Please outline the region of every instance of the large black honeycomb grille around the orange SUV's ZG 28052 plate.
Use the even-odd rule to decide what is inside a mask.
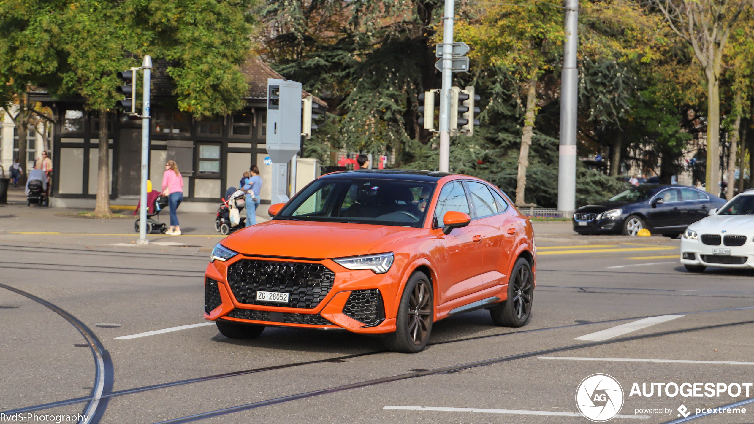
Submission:
[[[228,285],[241,304],[311,309],[334,282],[335,273],[322,264],[241,259],[228,267]],[[289,302],[258,302],[257,290],[289,293]]]

